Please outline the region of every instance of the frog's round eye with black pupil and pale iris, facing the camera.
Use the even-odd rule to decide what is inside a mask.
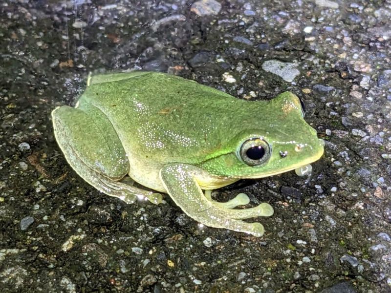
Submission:
[[[240,146],[239,155],[248,166],[261,165],[269,158],[270,147],[262,138],[253,137]]]

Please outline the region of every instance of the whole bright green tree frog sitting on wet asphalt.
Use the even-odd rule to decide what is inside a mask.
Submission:
[[[235,209],[249,203],[246,194],[222,203],[211,190],[303,169],[324,146],[290,92],[245,101],[157,72],[93,76],[76,106],[58,107],[52,117],[69,165],[98,190],[126,203],[146,198],[155,204],[165,192],[206,226],[255,236],[263,226],[243,219],[270,216],[273,208]]]

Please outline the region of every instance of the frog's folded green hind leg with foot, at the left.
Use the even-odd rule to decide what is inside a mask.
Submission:
[[[161,194],[119,181],[129,172],[130,164],[114,127],[99,109],[91,105],[82,108],[61,106],[52,112],[54,134],[69,165],[107,195],[126,203],[137,198],[159,203]]]

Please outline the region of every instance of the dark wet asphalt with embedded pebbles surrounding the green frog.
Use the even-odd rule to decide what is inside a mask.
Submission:
[[[391,292],[391,1],[0,4],[1,292]],[[262,238],[126,205],[66,163],[50,112],[88,72],[163,71],[239,99],[289,90],[326,141],[310,177],[240,181]]]

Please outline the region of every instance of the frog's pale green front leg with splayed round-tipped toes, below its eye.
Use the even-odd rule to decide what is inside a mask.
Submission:
[[[160,179],[168,194],[191,218],[209,227],[246,232],[258,237],[263,235],[260,223],[247,223],[240,219],[272,214],[268,204],[251,209],[232,209],[236,204],[227,207],[224,203],[212,201],[208,192],[204,196],[197,183],[197,177],[202,176],[210,175],[186,164],[168,164],[160,170]]]

